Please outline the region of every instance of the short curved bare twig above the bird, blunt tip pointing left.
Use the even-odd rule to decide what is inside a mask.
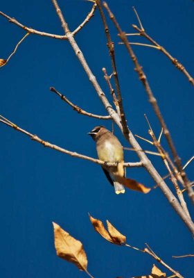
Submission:
[[[69,99],[67,99],[67,97],[65,97],[60,92],[58,92],[54,87],[50,87],[50,90],[52,92],[55,92],[56,95],[58,95],[62,100],[67,102],[67,104],[69,104],[73,108],[73,110],[77,111],[79,114],[89,116],[89,117],[95,117],[96,119],[100,119],[100,120],[109,120],[109,119],[111,119],[110,116],[100,116],[100,115],[95,115],[95,114],[88,113],[87,111],[82,110],[82,108],[78,107],[77,105],[72,104],[72,102],[69,101]]]

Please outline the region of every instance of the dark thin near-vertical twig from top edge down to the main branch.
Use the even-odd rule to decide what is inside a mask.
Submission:
[[[111,63],[112,63],[112,70],[113,70],[113,76],[114,76],[114,83],[116,86],[116,92],[117,92],[117,96],[118,96],[118,106],[119,106],[119,111],[120,111],[120,116],[121,116],[121,124],[123,127],[123,134],[127,134],[129,133],[129,129],[127,128],[127,120],[125,117],[125,111],[123,108],[123,99],[121,96],[121,88],[120,88],[120,84],[119,84],[119,80],[118,80],[118,72],[116,70],[116,60],[115,60],[115,53],[114,53],[114,42],[112,42],[111,40],[111,36],[109,33],[109,28],[107,25],[107,21],[105,19],[105,14],[103,12],[103,8],[101,5],[101,0],[96,0],[96,3],[98,5],[98,10],[100,11],[100,16],[103,20],[103,25],[105,28],[105,34],[107,37],[107,47],[109,49],[109,56],[111,58]]]

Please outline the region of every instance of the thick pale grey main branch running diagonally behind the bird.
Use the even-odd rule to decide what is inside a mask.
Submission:
[[[121,120],[118,117],[118,114],[114,111],[112,108],[112,105],[109,104],[109,101],[105,97],[105,94],[103,90],[100,88],[100,85],[96,81],[96,77],[94,74],[91,72],[89,65],[87,64],[87,61],[85,60],[85,57],[82,54],[82,51],[78,47],[78,44],[76,43],[76,40],[73,38],[72,33],[69,31],[69,27],[67,25],[67,22],[65,22],[64,17],[62,15],[62,12],[60,10],[60,7],[58,6],[58,2],[56,0],[52,0],[53,6],[55,7],[56,12],[58,13],[58,17],[60,18],[60,22],[62,23],[62,28],[64,29],[64,32],[67,35],[67,38],[69,40],[69,43],[71,44],[71,47],[75,51],[76,56],[78,57],[78,60],[80,61],[83,69],[85,70],[89,81],[91,84],[94,86],[96,93],[98,94],[98,97],[100,100],[103,102],[107,112],[109,115],[112,117],[114,122],[118,125],[118,127],[123,131],[123,127],[121,125]],[[130,142],[132,147],[134,149],[140,149],[141,147],[139,143],[136,141],[134,136],[132,135],[132,132],[128,134],[124,134],[126,140]],[[139,156],[141,162],[143,163],[143,166],[145,169],[149,172],[151,177],[155,180],[155,182],[159,185],[161,188],[162,192],[164,193],[165,197],[168,199],[168,202],[170,202],[171,206],[175,209],[177,214],[179,215],[180,218],[182,218],[183,222],[186,224],[188,229],[191,231],[191,233],[194,235],[194,225],[193,222],[188,218],[188,216],[184,213],[182,206],[180,206],[179,202],[177,201],[175,195],[170,191],[164,180],[161,178],[155,167],[152,165],[151,161],[149,161],[148,157],[143,153],[143,152],[136,152],[136,154]]]

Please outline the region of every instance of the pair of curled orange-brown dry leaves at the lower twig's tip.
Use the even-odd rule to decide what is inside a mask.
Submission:
[[[116,228],[114,228],[114,226],[112,226],[109,221],[107,221],[107,231],[102,221],[93,218],[91,215],[89,215],[89,219],[91,224],[93,224],[95,231],[97,231],[100,236],[103,236],[103,238],[108,240],[110,243],[117,245],[126,243],[126,237],[123,236]]]

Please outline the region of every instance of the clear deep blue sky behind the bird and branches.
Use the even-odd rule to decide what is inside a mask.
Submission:
[[[91,3],[86,1],[66,0],[59,4],[71,30],[83,21],[91,8]],[[134,33],[131,24],[137,24],[132,11],[135,6],[145,30],[191,74],[194,65],[193,5],[191,0],[109,1],[127,33]],[[63,34],[51,1],[8,0],[1,1],[0,7],[26,26]],[[125,47],[117,44],[118,36],[111,22],[109,26],[115,41],[128,124],[134,133],[149,138],[143,117],[146,113],[155,133],[159,134],[159,123],[134,72],[134,65]],[[25,32],[0,17],[0,33],[1,58],[7,58]],[[109,74],[112,72],[98,11],[76,35],[76,40],[111,101],[101,70],[106,67]],[[145,42],[139,37],[131,40]],[[193,155],[193,87],[159,51],[133,48],[159,101],[182,162],[186,163]],[[8,65],[1,68],[0,78],[2,115],[44,140],[96,157],[95,143],[87,132],[98,124],[111,129],[111,122],[78,115],[49,91],[50,86],[55,86],[81,108],[106,115],[67,41],[30,35]],[[172,259],[172,255],[193,253],[193,239],[159,188],[148,195],[126,190],[125,195],[117,196],[98,165],[44,148],[3,124],[0,135],[1,277],[87,277],[85,272],[56,256],[52,221],[82,241],[89,261],[88,270],[94,277],[148,275],[152,263],[157,262],[141,252],[106,242],[94,231],[88,212],[94,218],[112,222],[127,236],[127,243],[140,248],[148,243],[172,268],[184,277],[193,277],[193,258]],[[127,147],[118,129],[116,135]],[[164,138],[161,142],[167,148]],[[145,142],[141,144],[144,149],[155,150]],[[149,157],[161,175],[165,175],[167,171],[160,158]],[[126,152],[125,160],[138,161],[138,158]],[[192,164],[186,172],[192,180]],[[155,185],[143,169],[128,169],[127,176],[147,186]],[[174,191],[172,184],[169,185]],[[186,201],[191,209],[187,197]]]

